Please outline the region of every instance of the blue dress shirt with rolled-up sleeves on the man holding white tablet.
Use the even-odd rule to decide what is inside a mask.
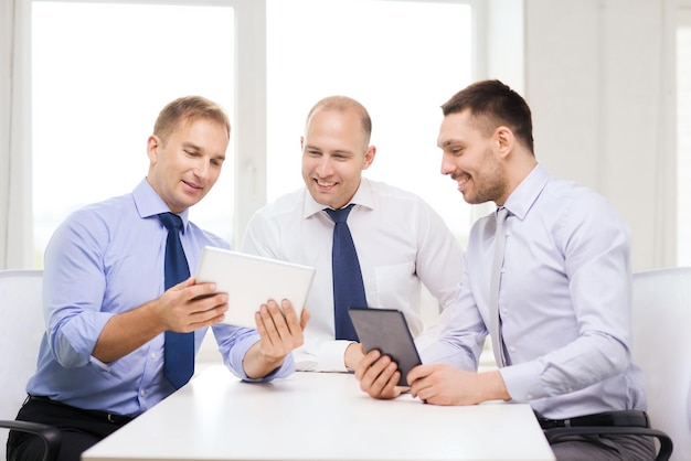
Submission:
[[[157,215],[169,211],[145,179],[131,194],[88,205],[56,229],[45,251],[47,333],[36,373],[26,386],[29,394],[78,408],[137,416],[174,392],[163,377],[162,333],[113,363],[91,355],[111,317],[163,293],[168,230]],[[188,211],[180,216],[182,246],[193,275],[204,246],[230,245],[190,223]],[[256,330],[228,324],[212,329],[230,371],[253,380],[244,374],[242,362],[259,340]],[[194,332],[195,351],[206,330]],[[294,369],[289,354],[278,369],[258,380],[285,377]]]

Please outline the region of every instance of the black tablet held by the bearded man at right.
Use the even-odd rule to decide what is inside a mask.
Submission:
[[[348,313],[364,352],[378,349],[389,355],[401,372],[398,386],[408,386],[405,377],[422,361],[403,312],[396,309],[349,308]]]

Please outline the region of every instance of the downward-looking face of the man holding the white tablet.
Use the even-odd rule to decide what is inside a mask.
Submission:
[[[196,204],[216,183],[228,144],[225,127],[209,119],[183,120],[167,141],[151,135],[147,180],[173,213]]]

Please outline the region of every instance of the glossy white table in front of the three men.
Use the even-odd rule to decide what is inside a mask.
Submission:
[[[243,383],[222,365],[83,454],[103,460],[554,460],[528,405],[370,398],[352,375]]]

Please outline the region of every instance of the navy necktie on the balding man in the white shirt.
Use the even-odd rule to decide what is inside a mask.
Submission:
[[[326,208],[334,223],[331,267],[333,270],[333,320],[337,340],[358,341],[348,315],[349,307],[366,308],[364,283],[353,238],[348,227],[348,214],[354,204],[341,210]]]

